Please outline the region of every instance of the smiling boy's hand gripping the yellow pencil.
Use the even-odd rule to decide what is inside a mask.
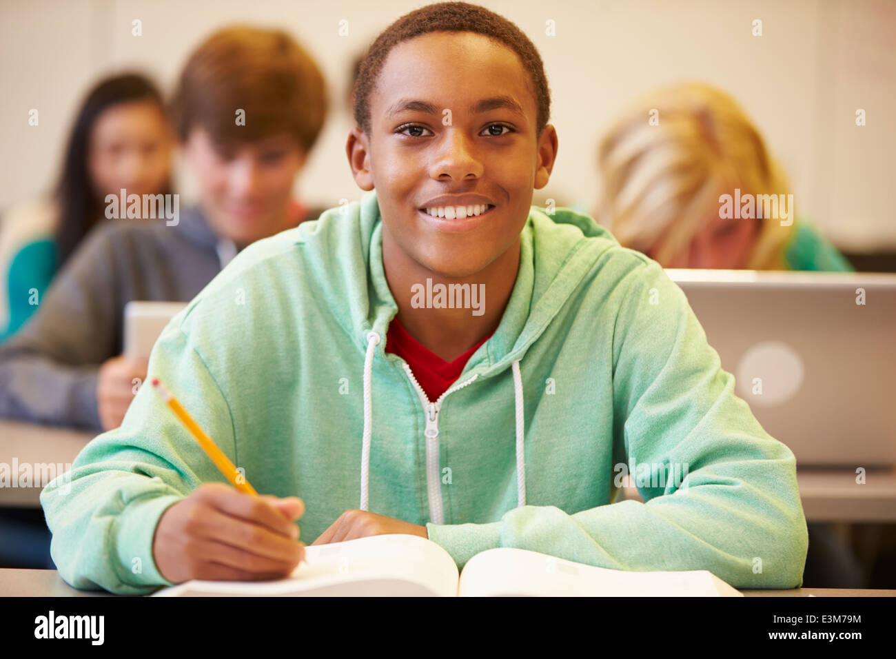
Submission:
[[[159,518],[152,559],[162,577],[258,581],[289,577],[305,558],[295,520],[297,497],[255,498],[223,483],[204,483]]]

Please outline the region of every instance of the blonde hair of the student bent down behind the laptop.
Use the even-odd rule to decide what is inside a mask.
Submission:
[[[787,175],[737,102],[702,82],[680,82],[642,97],[599,146],[598,220],[625,247],[660,264],[690,244],[719,195],[787,195]],[[794,217],[793,208],[789,217]],[[745,267],[787,269],[790,227],[764,218]]]

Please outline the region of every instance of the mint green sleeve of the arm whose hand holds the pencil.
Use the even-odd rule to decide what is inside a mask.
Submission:
[[[174,322],[152,349],[149,375],[159,377],[239,464],[228,403]],[[206,481],[224,477],[152,386],[142,386],[121,427],[90,441],[71,471],[40,494],[60,576],[75,588],[115,594],[172,585],[152,557],[156,525],[168,507]]]

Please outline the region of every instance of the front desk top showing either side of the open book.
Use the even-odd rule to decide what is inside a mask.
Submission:
[[[896,590],[794,588],[742,590],[746,597],[896,597]],[[54,569],[0,569],[0,597],[106,597],[105,591],[78,590],[65,583]]]

